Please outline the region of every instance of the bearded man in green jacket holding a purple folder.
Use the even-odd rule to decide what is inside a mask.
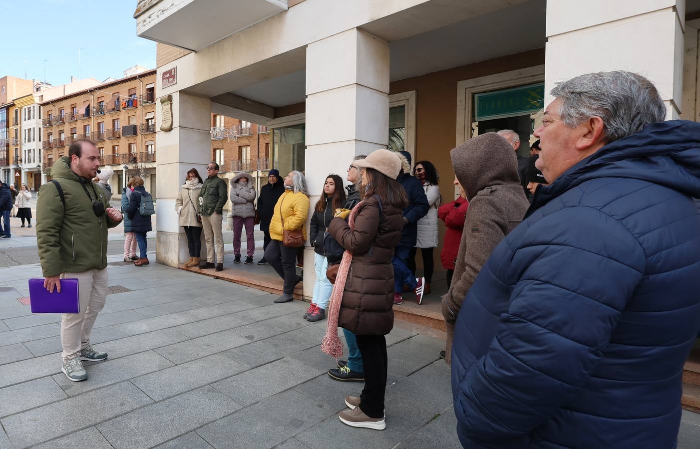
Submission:
[[[90,332],[107,295],[107,228],[116,227],[122,214],[109,207],[102,189],[92,182],[98,168],[97,147],[78,139],[71,143],[68,157],[53,165],[52,182],[41,186],[36,201],[44,287],[60,292],[59,279],[78,279],[80,312],[64,313],[61,320],[61,371],[73,382],[87,379],[81,360],[107,358],[90,344]]]

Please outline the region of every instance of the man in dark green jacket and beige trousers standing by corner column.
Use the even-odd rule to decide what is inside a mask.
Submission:
[[[209,162],[207,179],[200,190],[200,214],[204,240],[207,242],[207,262],[200,265],[202,269],[214,268],[214,241],[216,241],[216,271],[223,270],[223,205],[228,199],[226,181],[218,177],[218,164]]]

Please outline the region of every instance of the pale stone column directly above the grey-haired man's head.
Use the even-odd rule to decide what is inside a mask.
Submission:
[[[585,8],[584,13],[582,8]],[[656,85],[668,120],[682,108],[685,0],[547,0],[545,104],[554,83],[626,70]]]

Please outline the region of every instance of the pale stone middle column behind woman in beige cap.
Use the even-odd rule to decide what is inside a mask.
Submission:
[[[342,178],[356,155],[388,144],[389,47],[359,29],[307,46],[306,179],[311,208],[328,173]],[[304,296],[311,297],[314,251],[304,256]]]

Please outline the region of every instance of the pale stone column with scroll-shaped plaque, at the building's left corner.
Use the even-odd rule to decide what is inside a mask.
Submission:
[[[194,167],[200,172],[203,180],[207,178],[206,167],[211,162],[211,100],[186,92],[175,92],[172,96],[171,131],[160,131],[162,111],[160,101],[156,103],[158,131],[155,142],[158,148],[155,182],[158,208],[155,220],[155,259],[160,264],[177,266],[185,262],[189,255],[187,238],[179,226],[175,212],[175,199],[189,169]],[[204,251],[202,248],[202,252]]]

